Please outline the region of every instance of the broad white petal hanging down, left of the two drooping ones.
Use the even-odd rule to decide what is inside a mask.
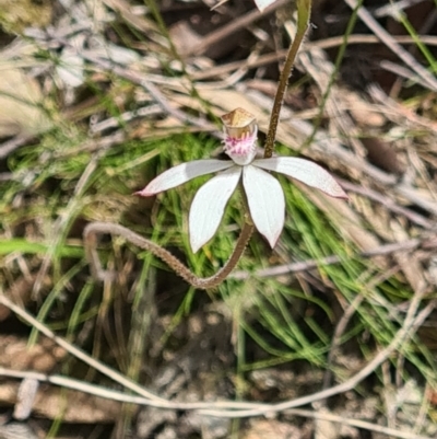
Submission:
[[[241,167],[234,165],[211,178],[196,194],[188,220],[190,244],[194,253],[217,230],[226,203],[237,187],[240,175]]]

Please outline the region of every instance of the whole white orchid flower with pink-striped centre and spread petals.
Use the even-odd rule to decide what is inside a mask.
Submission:
[[[232,160],[181,163],[165,171],[137,193],[150,197],[200,175],[218,172],[198,190],[191,204],[188,227],[194,253],[215,234],[225,206],[240,181],[255,227],[272,247],[275,245],[284,227],[285,199],[277,180],[265,171],[285,174],[331,197],[347,198],[327,171],[308,160],[291,157],[255,159],[258,127],[250,113],[237,108],[222,116],[222,120],[225,126],[224,151]]]

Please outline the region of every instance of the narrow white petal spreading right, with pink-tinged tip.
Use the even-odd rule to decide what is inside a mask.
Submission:
[[[331,197],[347,198],[345,192],[331,174],[316,163],[293,157],[274,157],[272,159],[255,160],[253,166],[280,172],[296,178],[308,186],[316,187]]]

